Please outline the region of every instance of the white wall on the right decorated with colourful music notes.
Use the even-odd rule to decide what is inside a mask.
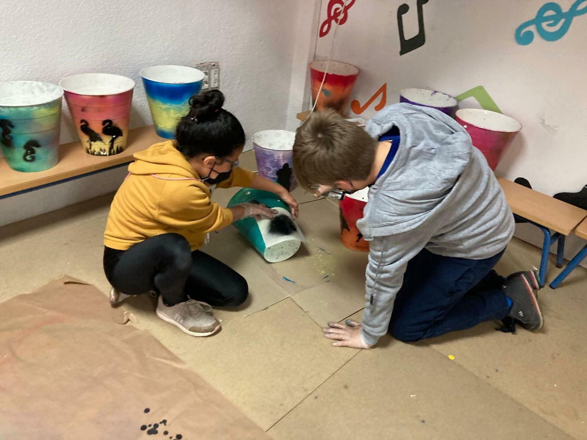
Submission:
[[[431,0],[423,6],[426,43],[400,56],[397,8],[410,6],[404,15],[410,38],[418,30],[416,0],[357,0],[338,29],[333,59],[359,67],[351,100],[360,104],[383,83],[387,104],[397,103],[407,87],[456,96],[484,86],[503,113],[523,126],[496,173],[511,180],[525,177],[548,195],[579,191],[587,184],[587,16],[575,17],[559,40],[535,35],[530,45],[518,45],[515,29],[545,2]],[[558,4],[568,11],[573,2]],[[327,4],[322,0],[319,23],[326,19]],[[328,57],[332,36],[333,29],[318,39],[316,59]],[[377,103],[360,116],[372,116]],[[461,107],[479,106],[467,99]],[[355,116],[350,107],[348,114]],[[534,226],[520,226],[517,235],[541,246],[542,234]],[[567,258],[584,243],[570,237]]]

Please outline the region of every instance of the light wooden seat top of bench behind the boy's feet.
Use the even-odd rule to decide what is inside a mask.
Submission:
[[[514,214],[563,235],[569,235],[587,217],[585,209],[569,205],[502,177],[497,180]]]

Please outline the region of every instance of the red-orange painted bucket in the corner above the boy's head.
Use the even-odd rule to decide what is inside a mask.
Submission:
[[[356,66],[330,61],[324,85],[318,96],[318,89],[324,78],[326,60],[317,60],[309,64],[310,80],[312,86],[312,104],[318,99],[316,109],[335,109],[340,114],[345,114],[346,106],[349,103],[350,92],[355,87],[359,69]]]

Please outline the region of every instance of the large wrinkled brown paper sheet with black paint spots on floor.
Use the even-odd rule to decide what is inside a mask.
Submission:
[[[126,319],[70,277],[0,304],[0,438],[269,438]]]

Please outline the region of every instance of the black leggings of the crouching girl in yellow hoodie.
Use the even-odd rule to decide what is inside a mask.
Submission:
[[[105,248],[104,272],[119,292],[140,295],[154,290],[168,306],[190,298],[235,307],[248,295],[247,280],[210,255],[191,252],[177,233],[147,238],[127,251]]]

